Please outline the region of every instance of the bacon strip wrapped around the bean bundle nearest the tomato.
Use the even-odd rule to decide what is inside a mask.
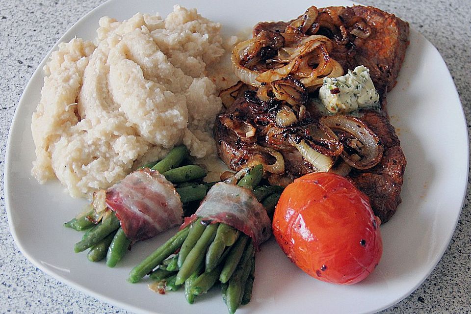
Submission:
[[[271,236],[271,221],[253,193],[244,187],[216,183],[192,216],[222,222],[252,237],[259,247]]]

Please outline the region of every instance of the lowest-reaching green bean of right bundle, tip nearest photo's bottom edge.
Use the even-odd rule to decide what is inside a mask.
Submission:
[[[252,240],[247,244],[243,258],[237,265],[234,274],[229,280],[229,286],[227,287],[227,308],[230,314],[234,314],[240,303],[242,302],[242,296],[244,294],[244,288],[247,282],[247,278],[252,270],[252,259],[255,254],[254,245]]]

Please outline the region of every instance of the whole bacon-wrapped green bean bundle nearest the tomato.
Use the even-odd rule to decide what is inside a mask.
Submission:
[[[164,293],[184,284],[186,299],[193,303],[195,296],[206,293],[219,279],[230,287],[226,293],[230,313],[240,306],[244,295],[244,304],[247,303],[253,285],[249,273],[255,268],[255,252],[271,235],[270,218],[259,202],[262,197],[268,199],[269,193],[252,191],[260,183],[262,174],[263,166],[259,164],[237,185],[220,182],[212,186],[195,214],[183,223],[179,233],[184,233],[185,239],[179,238],[177,245],[176,240],[167,241],[135,266],[128,280],[138,282],[156,269],[156,276],[151,274],[151,278],[159,278],[157,286],[164,287],[167,278],[162,274],[172,274],[175,276],[175,282],[171,278],[172,287],[159,291]],[[279,189],[273,191],[279,197]],[[170,270],[165,264],[175,259],[178,261],[176,275],[162,271]]]

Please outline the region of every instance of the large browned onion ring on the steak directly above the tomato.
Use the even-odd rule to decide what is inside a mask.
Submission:
[[[361,120],[344,115],[322,117],[320,123],[330,128],[343,144],[342,158],[356,169],[369,169],[383,157],[378,136]]]

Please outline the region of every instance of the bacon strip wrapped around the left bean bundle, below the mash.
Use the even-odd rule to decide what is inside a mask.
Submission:
[[[180,195],[164,176],[140,169],[106,190],[106,205],[115,211],[132,242],[151,238],[183,221]]]

